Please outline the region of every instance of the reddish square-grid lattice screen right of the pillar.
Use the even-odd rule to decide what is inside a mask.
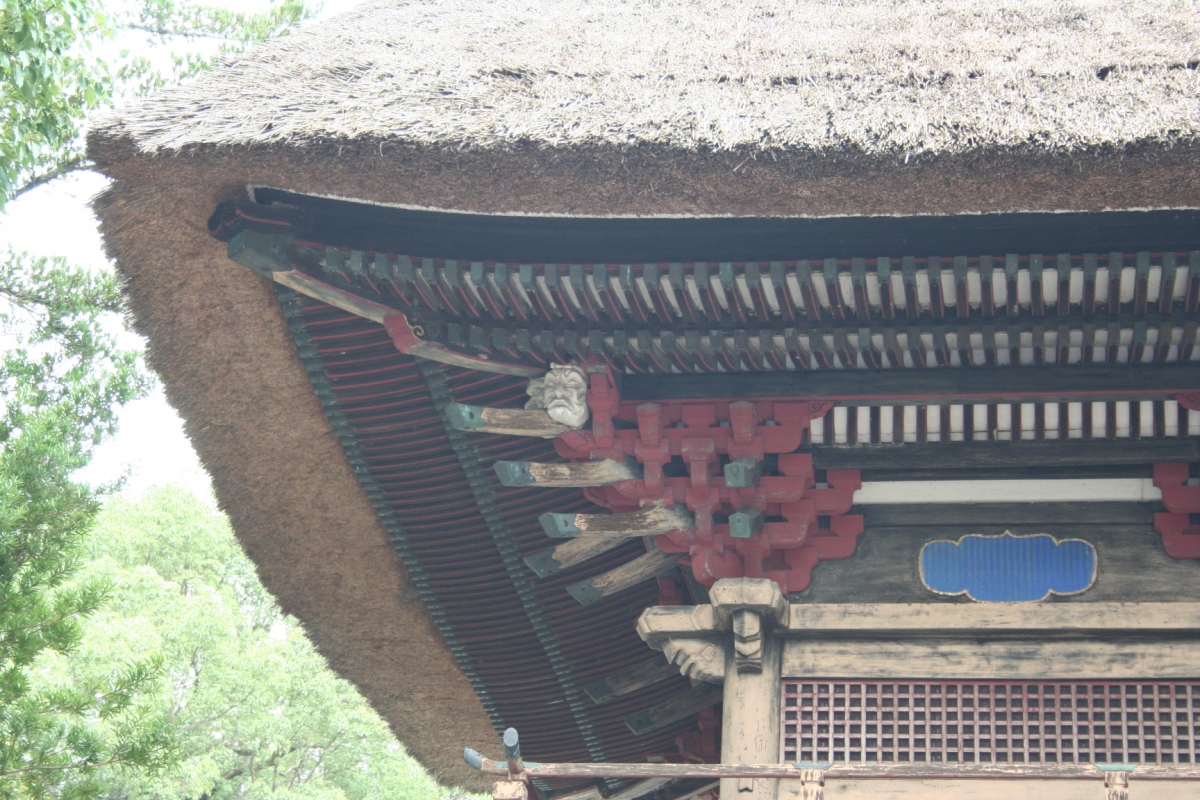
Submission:
[[[1200,763],[1200,681],[784,681],[787,762]]]

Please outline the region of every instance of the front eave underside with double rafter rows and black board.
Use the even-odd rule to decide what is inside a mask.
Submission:
[[[1138,399],[1121,367],[1195,353],[1200,212],[572,219],[256,194],[209,223],[232,258],[302,294],[361,301],[367,311],[355,313],[404,329],[406,351],[484,371],[533,374],[592,357],[635,384],[763,373],[702,386],[648,378],[634,396],[854,401],[870,384],[896,399],[938,385],[967,401],[1009,386],[1045,402],[1061,383],[1032,374],[1021,389],[997,373],[888,378],[882,390],[874,377],[818,378],[815,389],[766,375],[1081,366],[1070,391],[1099,401],[1117,387]],[[635,257],[644,260],[623,260]],[[1170,384],[1168,374],[1147,380]],[[1193,383],[1180,378],[1141,389],[1169,396]]]

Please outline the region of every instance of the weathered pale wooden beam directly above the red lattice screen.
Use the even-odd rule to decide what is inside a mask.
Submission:
[[[955,608],[961,608],[956,606]],[[859,674],[872,679],[1174,680],[1194,679],[1198,640],[1027,639],[788,640],[784,676]]]

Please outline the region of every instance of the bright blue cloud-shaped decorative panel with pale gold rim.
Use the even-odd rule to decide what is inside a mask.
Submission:
[[[966,595],[990,603],[1028,602],[1076,595],[1096,582],[1096,548],[1049,534],[972,534],[920,549],[920,579],[941,595]]]

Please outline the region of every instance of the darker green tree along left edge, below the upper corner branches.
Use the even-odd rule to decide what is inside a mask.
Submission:
[[[68,583],[98,509],[97,492],[71,474],[146,381],[137,355],[103,330],[120,307],[110,276],[10,253],[0,300],[0,795],[90,796],[100,765],[172,762],[168,727],[137,702],[161,664],[128,658],[42,687],[28,670],[43,651],[72,652],[108,596],[101,577]],[[79,780],[61,792],[72,772]]]

